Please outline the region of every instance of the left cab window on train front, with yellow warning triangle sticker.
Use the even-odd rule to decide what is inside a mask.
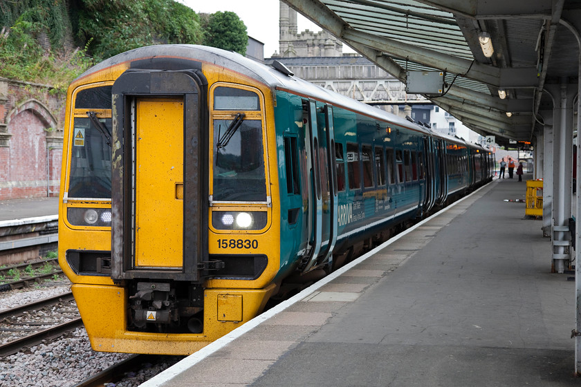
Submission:
[[[111,86],[75,95],[71,131],[69,198],[111,198]]]

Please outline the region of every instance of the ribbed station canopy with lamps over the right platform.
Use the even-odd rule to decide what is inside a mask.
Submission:
[[[531,142],[555,90],[578,88],[581,0],[284,2],[401,82],[443,72],[423,95],[500,145]]]

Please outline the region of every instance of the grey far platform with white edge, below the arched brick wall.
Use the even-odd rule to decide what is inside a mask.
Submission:
[[[0,200],[0,222],[59,215],[59,198]]]

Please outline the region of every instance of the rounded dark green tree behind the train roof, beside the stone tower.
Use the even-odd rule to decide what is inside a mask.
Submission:
[[[205,19],[205,46],[222,48],[246,55],[248,34],[244,22],[234,12],[216,12]]]

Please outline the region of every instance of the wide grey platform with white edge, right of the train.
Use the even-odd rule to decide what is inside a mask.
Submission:
[[[578,386],[575,283],[525,191],[494,180],[141,386]]]

